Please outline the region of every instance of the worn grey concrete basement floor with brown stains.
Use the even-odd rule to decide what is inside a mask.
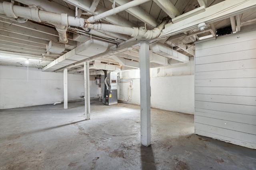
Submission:
[[[256,150],[194,135],[194,115],[151,109],[152,145],[140,144],[140,106],[84,102],[0,110],[0,169],[256,170]]]

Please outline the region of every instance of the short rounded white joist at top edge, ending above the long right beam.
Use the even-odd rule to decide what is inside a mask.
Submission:
[[[170,2],[170,0],[153,0],[164,12],[170,16],[170,18],[175,18],[180,15],[177,8]]]

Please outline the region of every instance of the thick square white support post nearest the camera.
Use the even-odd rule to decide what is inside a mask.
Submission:
[[[140,43],[140,141],[151,144],[149,43]]]

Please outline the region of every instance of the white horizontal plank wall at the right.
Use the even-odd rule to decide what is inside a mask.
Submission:
[[[256,31],[196,44],[195,133],[256,149]]]

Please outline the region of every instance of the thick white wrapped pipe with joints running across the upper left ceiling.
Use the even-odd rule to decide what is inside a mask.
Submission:
[[[134,0],[135,1],[135,0]],[[136,0],[138,1],[138,0]],[[144,1],[143,1],[144,2]],[[46,21],[49,23],[55,23],[57,25],[64,25],[64,26],[76,26],[81,28],[90,28],[96,30],[104,30],[110,31],[115,33],[122,33],[126,35],[131,35],[132,37],[142,36],[146,39],[154,39],[158,37],[164,28],[164,25],[168,23],[169,19],[164,18],[160,25],[152,30],[147,30],[145,27],[124,27],[119,25],[111,25],[105,23],[87,23],[83,18],[75,18],[73,16],[68,16],[68,14],[56,14],[53,12],[47,12],[39,10],[39,8],[34,7],[22,7],[22,6],[14,6],[13,3],[10,2],[3,2],[0,3],[0,14],[4,14],[8,17],[12,18],[28,18],[34,21]],[[60,31],[60,30],[59,30]],[[64,35],[62,31],[60,31],[61,35]],[[65,38],[62,38],[65,39]]]

